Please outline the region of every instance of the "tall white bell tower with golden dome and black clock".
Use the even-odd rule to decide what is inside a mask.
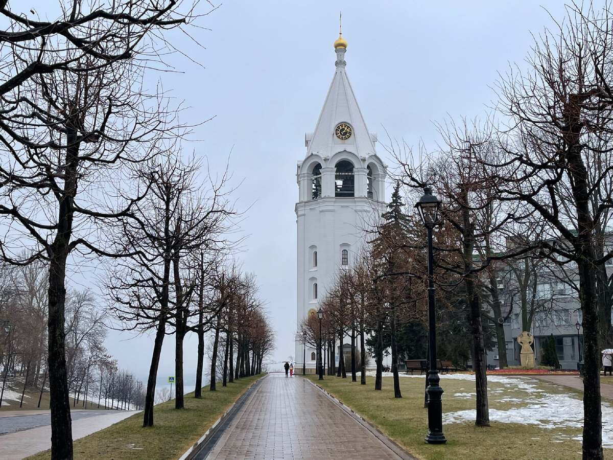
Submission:
[[[297,330],[319,309],[335,273],[351,266],[366,242],[365,230],[386,211],[386,167],[376,155],[376,134],[366,128],[345,71],[347,42],[334,42],[337,60],[326,102],[299,161],[297,182]],[[316,367],[306,347],[307,369]],[[303,343],[295,342],[295,370],[302,372]],[[338,362],[338,361],[337,361]]]

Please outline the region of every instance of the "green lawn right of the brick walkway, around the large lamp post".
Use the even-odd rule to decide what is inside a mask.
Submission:
[[[398,445],[419,459],[477,460],[477,459],[581,459],[581,443],[573,437],[581,435],[576,427],[545,429],[533,424],[492,421],[490,427],[475,427],[472,421],[443,424],[446,445],[424,443],[427,434],[427,409],[424,408],[424,378],[400,378],[402,398],[394,398],[392,377],[383,378],[383,391],[375,391],[375,378],[367,377],[367,385],[355,383],[351,377],[343,379],[308,377],[332,396],[393,439]],[[581,392],[541,381],[531,381],[547,394],[571,394],[581,399]],[[612,382],[613,383],[613,382]],[[441,378],[443,414],[460,410],[474,410],[474,381]],[[534,398],[538,391],[520,387],[509,388],[503,383],[488,381],[490,416],[492,410],[511,410],[528,405],[525,399]],[[471,395],[472,393],[472,395]],[[454,396],[455,395],[455,396]],[[611,449],[604,450],[605,458],[613,459]]]

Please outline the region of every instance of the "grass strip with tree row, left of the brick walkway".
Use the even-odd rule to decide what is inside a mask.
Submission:
[[[175,401],[162,402],[154,408],[154,426],[143,428],[143,413],[78,439],[74,442],[75,460],[94,459],[177,459],[202,437],[215,420],[256,380],[265,374],[239,378],[217,391],[202,389],[202,399],[194,393],[185,395],[185,408],[176,410]],[[31,460],[50,459],[51,451],[39,452]]]

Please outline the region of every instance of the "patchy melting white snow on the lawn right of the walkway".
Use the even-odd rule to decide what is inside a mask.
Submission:
[[[375,377],[375,372],[367,372],[367,375]],[[391,372],[383,372],[383,377],[392,377]],[[425,375],[400,374],[400,377],[425,378]],[[451,374],[441,376],[444,389],[444,380],[467,380],[474,385],[472,374]],[[497,410],[490,408],[490,420],[501,423],[535,424],[543,429],[557,429],[561,427],[581,428],[583,426],[583,401],[574,394],[548,394],[543,389],[536,388],[536,381],[525,377],[509,377],[502,375],[488,375],[488,382],[501,383],[502,388],[488,388],[490,397],[502,395],[497,401],[524,403],[524,407],[513,407],[509,410]],[[468,386],[468,385],[467,385]],[[472,388],[462,388],[470,390]],[[512,397],[514,391],[526,391],[530,396],[521,399]],[[511,395],[509,395],[511,393]],[[455,393],[452,397],[470,399],[476,393]],[[449,396],[447,396],[449,397]],[[611,406],[603,402],[603,447],[613,448],[613,411]],[[444,406],[443,406],[444,407]],[[476,410],[460,410],[458,412],[443,413],[443,424],[474,421]],[[568,439],[563,435],[558,436],[560,441]],[[581,435],[574,437],[581,441]]]

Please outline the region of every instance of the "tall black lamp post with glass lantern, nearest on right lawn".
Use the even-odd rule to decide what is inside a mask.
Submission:
[[[428,444],[444,444],[447,442],[443,434],[443,405],[441,395],[443,388],[439,385],[440,377],[436,370],[436,318],[434,305],[434,256],[432,254],[432,229],[436,225],[440,201],[433,196],[432,188],[424,187],[424,196],[415,207],[422,223],[428,230],[428,335],[430,341],[430,366],[428,366],[428,434],[425,442]]]

